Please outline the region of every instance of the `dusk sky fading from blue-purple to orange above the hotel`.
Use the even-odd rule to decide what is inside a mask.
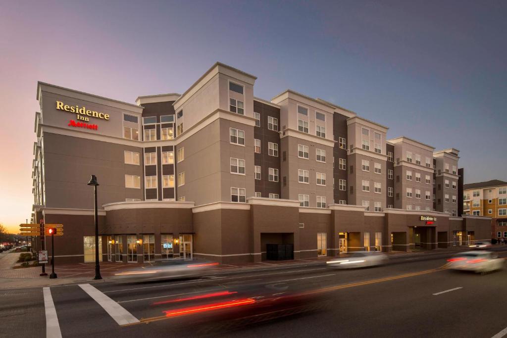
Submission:
[[[214,62],[320,97],[507,180],[506,2],[0,1],[0,223],[29,218],[37,81],[134,103]],[[92,195],[90,195],[92,198]]]

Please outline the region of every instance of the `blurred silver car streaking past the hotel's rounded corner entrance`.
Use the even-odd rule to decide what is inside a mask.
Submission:
[[[118,272],[115,274],[115,277],[126,280],[197,278],[203,276],[205,273],[209,273],[218,265],[217,262],[203,260],[174,259],[157,261],[147,266]]]

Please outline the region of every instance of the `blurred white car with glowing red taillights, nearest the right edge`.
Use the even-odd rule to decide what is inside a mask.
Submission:
[[[490,251],[466,251],[447,259],[449,269],[485,273],[502,270],[505,265],[503,258]]]

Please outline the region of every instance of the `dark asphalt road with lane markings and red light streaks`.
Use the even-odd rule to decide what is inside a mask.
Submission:
[[[505,248],[496,250],[507,257]],[[0,336],[44,337],[57,320],[63,337],[493,337],[507,327],[507,270],[452,272],[444,268],[450,255],[356,270],[309,263],[55,286],[45,291],[53,301],[46,306],[42,289],[0,291]],[[48,321],[51,304],[57,319]]]

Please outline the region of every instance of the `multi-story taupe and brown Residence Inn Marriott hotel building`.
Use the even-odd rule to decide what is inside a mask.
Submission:
[[[64,224],[59,262],[286,257],[464,245],[489,218],[459,216],[458,151],[215,63],[183,94],[135,104],[39,82],[32,221]],[[429,177],[429,178],[428,178]],[[461,180],[462,181],[462,180]],[[40,246],[40,243],[38,243]],[[49,243],[48,243],[49,246]]]

